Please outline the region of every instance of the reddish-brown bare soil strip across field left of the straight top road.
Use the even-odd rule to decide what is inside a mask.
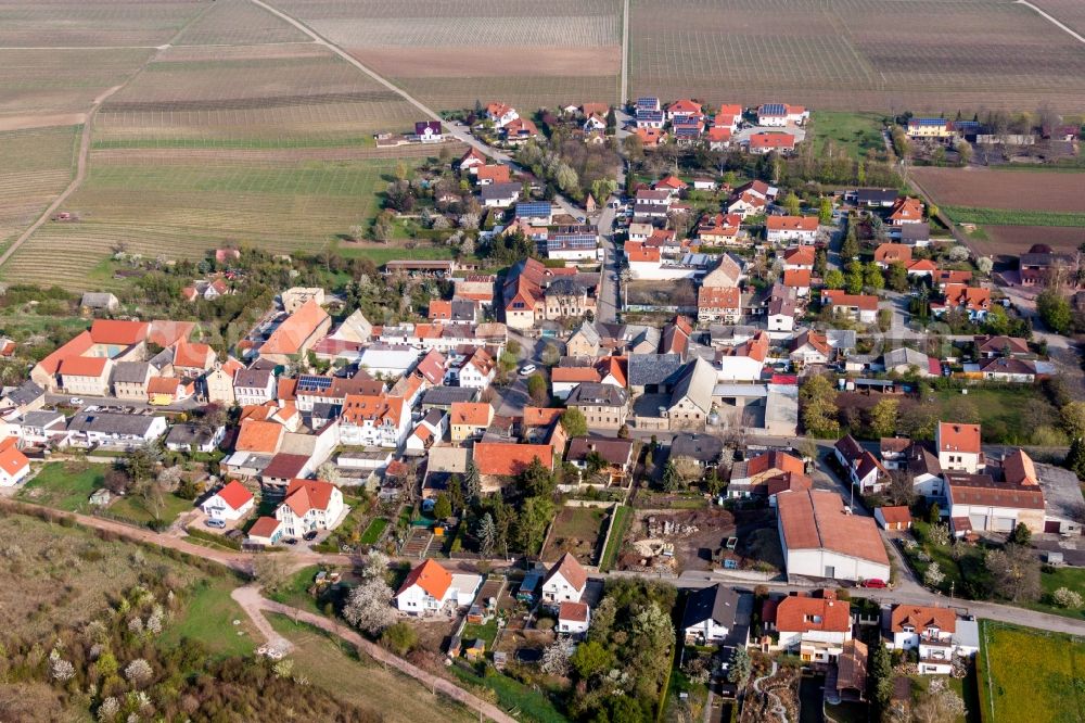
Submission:
[[[456,49],[447,48],[372,48],[352,49],[350,54],[381,75],[404,78],[471,76],[476,78],[508,75],[607,75],[622,71],[622,49],[605,48],[523,48]],[[500,58],[499,63],[494,59]]]

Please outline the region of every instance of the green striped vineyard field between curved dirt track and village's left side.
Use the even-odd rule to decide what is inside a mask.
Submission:
[[[201,258],[227,242],[277,253],[323,249],[375,215],[376,194],[397,163],[304,155],[192,163],[107,153],[91,154],[87,180],[65,204],[80,220],[42,227],[4,266],[4,278],[116,287],[105,262],[120,246],[149,258]]]

